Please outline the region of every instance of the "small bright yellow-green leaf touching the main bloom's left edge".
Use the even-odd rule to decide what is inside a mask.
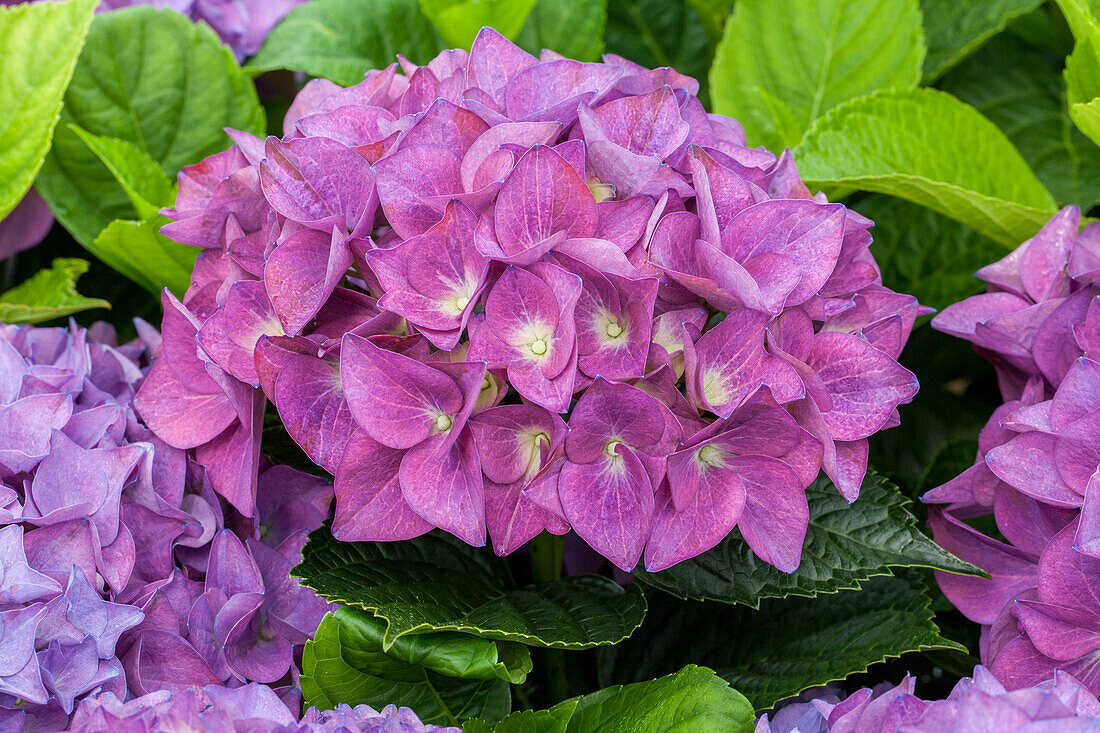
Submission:
[[[183,297],[200,250],[162,234],[167,221],[161,216],[146,221],[116,219],[88,249],[150,293],[160,295],[167,287]]]

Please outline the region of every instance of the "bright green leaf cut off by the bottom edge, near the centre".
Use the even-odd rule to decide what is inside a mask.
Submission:
[[[469,721],[465,733],[748,733],[752,707],[705,667],[607,687],[549,710],[524,710],[496,725]]]

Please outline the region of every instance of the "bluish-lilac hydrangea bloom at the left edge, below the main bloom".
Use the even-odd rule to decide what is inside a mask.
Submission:
[[[161,348],[138,326],[0,325],[0,729],[63,730],[96,691],[289,683],[328,608],[289,569],[331,485],[265,464],[254,513],[222,502],[133,411]]]

